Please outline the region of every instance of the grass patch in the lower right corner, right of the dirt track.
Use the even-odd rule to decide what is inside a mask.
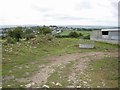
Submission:
[[[87,73],[86,73],[87,72]],[[105,57],[89,63],[89,69],[85,71],[92,88],[117,88],[118,87],[118,58]],[[85,78],[86,79],[86,78]]]

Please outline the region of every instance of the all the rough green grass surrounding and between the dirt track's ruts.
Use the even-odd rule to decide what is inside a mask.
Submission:
[[[3,45],[3,87],[25,87],[28,82],[18,82],[18,79],[34,75],[38,70],[41,69],[41,65],[49,65],[52,61],[45,60],[46,57],[62,56],[72,53],[84,54],[86,52],[117,52],[118,50],[117,45],[102,42],[95,42],[95,48],[93,49],[80,49],[78,47],[79,43],[80,40],[78,38],[52,37],[52,40],[49,40],[46,36],[42,36],[29,41],[21,41],[16,44]],[[110,85],[117,87],[117,62],[117,57],[112,56],[90,62],[90,66],[88,66],[89,68],[93,68],[92,72],[90,72],[89,68],[87,69],[87,72],[90,72],[88,75],[93,79],[90,85],[92,87],[96,87],[97,85],[94,84],[95,81],[97,83],[96,78],[101,77],[100,73],[102,73],[102,76],[104,76],[103,79],[109,84],[106,87],[109,87]],[[75,61],[71,61],[70,63],[66,64],[65,67],[63,67],[64,69],[62,69],[63,71],[60,68],[61,66],[55,68],[55,72],[48,77],[46,84],[50,85],[51,87],[57,87],[55,85],[51,85],[50,83],[57,80],[56,82],[60,81],[62,87],[66,87],[68,85],[67,76],[71,73],[71,67],[74,64]],[[62,79],[60,79],[59,75],[64,76],[62,76]],[[93,75],[95,75],[95,79],[92,77]]]

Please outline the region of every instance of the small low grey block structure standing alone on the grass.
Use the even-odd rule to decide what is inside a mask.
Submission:
[[[79,48],[94,48],[94,41],[82,39],[80,40]]]

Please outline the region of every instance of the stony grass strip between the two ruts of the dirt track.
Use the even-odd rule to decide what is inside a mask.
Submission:
[[[71,67],[74,65],[74,61],[70,61],[65,66],[59,66],[55,69],[55,72],[50,75],[47,81],[47,85],[49,85],[51,88],[64,88],[69,85],[68,77],[71,73]],[[61,68],[62,67],[62,68]],[[53,84],[54,82],[55,84]],[[60,83],[61,86],[57,86],[56,83]]]

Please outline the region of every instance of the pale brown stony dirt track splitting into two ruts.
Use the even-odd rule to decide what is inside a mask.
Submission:
[[[117,55],[116,53],[109,52],[88,52],[88,53],[73,53],[65,54],[62,56],[50,56],[45,60],[52,60],[52,63],[44,66],[35,75],[23,79],[21,81],[28,81],[26,87],[40,87],[43,83],[47,82],[48,77],[55,71],[55,68],[60,65],[66,65],[70,61],[76,61],[77,63],[74,67],[71,67],[72,72],[69,75],[69,80],[73,81],[74,86],[77,86],[77,75],[82,74],[82,72],[87,68],[87,62],[91,61],[89,57],[92,58],[102,58],[104,56]]]

